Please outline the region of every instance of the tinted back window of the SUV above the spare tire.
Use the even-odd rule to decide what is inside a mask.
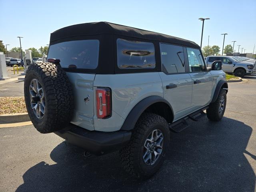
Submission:
[[[95,69],[98,66],[99,40],[68,41],[51,45],[47,59],[60,60],[63,68]]]

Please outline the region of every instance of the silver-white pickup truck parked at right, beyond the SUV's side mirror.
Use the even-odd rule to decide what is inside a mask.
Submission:
[[[222,61],[222,70],[227,73],[234,73],[235,76],[243,77],[254,72],[254,64],[239,57],[232,56],[208,56],[206,64],[211,67],[212,62]]]

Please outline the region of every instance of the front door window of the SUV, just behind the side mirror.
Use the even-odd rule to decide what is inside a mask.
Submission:
[[[187,47],[187,52],[190,72],[204,71],[204,61],[200,50]]]

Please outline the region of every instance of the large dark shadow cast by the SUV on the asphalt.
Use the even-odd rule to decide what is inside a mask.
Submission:
[[[223,118],[221,122],[191,122],[190,128],[172,134],[160,171],[138,181],[126,174],[118,153],[85,158],[83,150],[60,143],[50,157],[23,175],[23,191],[254,191],[255,174],[244,153],[252,128]]]

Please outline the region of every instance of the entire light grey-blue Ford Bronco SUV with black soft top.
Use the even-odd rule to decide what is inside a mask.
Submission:
[[[137,178],[162,165],[170,130],[187,119],[222,119],[228,84],[222,61],[207,68],[198,44],[138,28],[95,22],[56,30],[48,62],[32,64],[24,82],[28,114],[86,151],[119,150]]]

